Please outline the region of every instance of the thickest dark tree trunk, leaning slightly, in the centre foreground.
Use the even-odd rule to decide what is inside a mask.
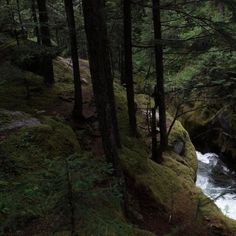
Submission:
[[[83,0],[83,11],[91,78],[104,152],[107,160],[112,162],[114,169],[118,172],[116,138],[118,131],[113,120],[116,113],[112,114],[115,111],[115,99],[103,4],[103,0]]]

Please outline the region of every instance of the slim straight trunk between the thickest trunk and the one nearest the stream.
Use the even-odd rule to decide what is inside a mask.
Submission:
[[[134,102],[133,63],[132,63],[132,21],[131,0],[124,0],[124,65],[128,101],[129,126],[132,136],[137,135],[136,108]]]

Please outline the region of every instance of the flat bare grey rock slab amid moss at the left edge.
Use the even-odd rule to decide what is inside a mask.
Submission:
[[[21,111],[0,110],[0,132],[40,125],[40,121]]]

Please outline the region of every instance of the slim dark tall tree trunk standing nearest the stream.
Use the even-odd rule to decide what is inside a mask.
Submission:
[[[160,0],[152,0],[153,3],[153,25],[155,37],[155,59],[156,59],[156,92],[155,106],[159,106],[160,117],[160,149],[159,158],[162,158],[162,153],[168,145],[167,128],[166,128],[166,105],[165,105],[165,90],[164,90],[164,66],[163,66],[163,46],[162,31],[161,31],[161,14]],[[157,104],[158,101],[158,104]]]

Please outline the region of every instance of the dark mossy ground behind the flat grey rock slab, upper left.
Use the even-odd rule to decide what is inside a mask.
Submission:
[[[9,62],[6,62],[9,64]],[[0,70],[2,70],[2,66]],[[53,104],[61,102],[59,96],[73,93],[73,79],[71,71],[62,61],[54,60],[54,73],[56,83],[52,87],[44,85],[43,78],[28,71],[20,71],[10,64],[9,71],[3,74],[0,83],[0,107],[8,110],[20,110],[35,113],[37,110],[50,110]],[[66,79],[63,79],[63,78]],[[27,99],[27,86],[30,98]],[[6,96],[7,94],[7,96]]]

